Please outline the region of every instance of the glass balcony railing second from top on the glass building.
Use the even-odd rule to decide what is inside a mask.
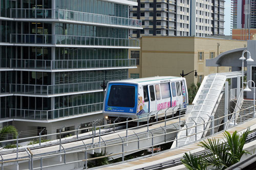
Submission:
[[[10,34],[11,43],[139,47],[138,39],[46,34]]]

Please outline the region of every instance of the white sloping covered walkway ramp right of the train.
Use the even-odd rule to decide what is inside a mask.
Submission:
[[[242,76],[241,71],[224,72],[210,74],[204,78],[193,101],[194,106],[188,115],[186,126],[183,127],[183,129],[189,129],[187,132],[185,130],[180,131],[178,135],[178,147],[205,137],[207,131],[204,131],[204,128],[208,129],[209,124],[207,126],[203,124],[204,122],[210,121],[210,116],[215,114],[215,109],[218,107],[218,100],[221,97],[226,79],[236,77],[240,74]],[[195,128],[196,125],[200,126]],[[192,135],[195,133],[197,135]],[[174,147],[176,145],[173,144],[172,148]]]

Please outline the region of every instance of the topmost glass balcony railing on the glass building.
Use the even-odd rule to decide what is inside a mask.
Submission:
[[[63,19],[70,21],[100,23],[106,25],[141,28],[139,19],[117,16],[100,15],[87,12],[69,11],[62,9],[11,9],[12,18],[28,19]]]

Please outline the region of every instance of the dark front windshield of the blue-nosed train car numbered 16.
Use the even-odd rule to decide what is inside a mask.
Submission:
[[[108,106],[134,107],[135,87],[126,85],[112,85],[110,89]]]

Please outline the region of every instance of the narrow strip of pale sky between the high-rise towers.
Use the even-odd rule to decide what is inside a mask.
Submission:
[[[230,25],[231,25],[231,0],[226,0],[225,2],[225,11],[224,11],[224,34],[230,35]]]

